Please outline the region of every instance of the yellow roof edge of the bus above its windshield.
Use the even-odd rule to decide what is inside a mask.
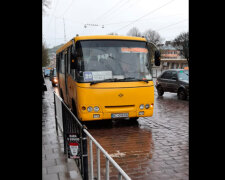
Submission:
[[[142,37],[133,37],[133,36],[118,36],[118,35],[95,35],[95,36],[76,36],[73,38],[76,41],[80,40],[94,40],[94,39],[116,39],[116,40],[134,40],[134,41],[146,41],[145,38]],[[63,49],[72,45],[72,41],[70,40],[66,44],[64,44],[61,48],[56,50],[56,54],[61,52]]]

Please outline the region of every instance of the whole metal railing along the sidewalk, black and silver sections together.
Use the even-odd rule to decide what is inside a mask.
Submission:
[[[87,127],[78,120],[78,118],[67,107],[63,100],[54,92],[55,103],[55,122],[56,132],[58,129],[63,134],[64,138],[64,153],[68,158],[75,159],[77,167],[80,170],[81,176],[84,180],[101,179],[100,167],[100,152],[105,157],[105,179],[110,177],[110,163],[117,170],[118,179],[130,180],[130,177],[121,169],[121,167],[110,157],[110,155],[103,149],[103,147],[94,139],[94,137],[87,131]],[[97,152],[97,175],[94,175],[93,166],[93,146],[95,144]],[[88,146],[89,143],[89,154]],[[90,158],[90,165],[88,166],[88,158]],[[88,174],[88,169],[90,173]]]

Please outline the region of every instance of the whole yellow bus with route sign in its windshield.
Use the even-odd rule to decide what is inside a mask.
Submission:
[[[152,116],[149,48],[141,37],[74,37],[56,51],[60,96],[80,121]]]

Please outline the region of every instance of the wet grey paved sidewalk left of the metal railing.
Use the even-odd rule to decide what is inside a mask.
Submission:
[[[54,112],[54,89],[45,78],[48,91],[42,99],[42,180],[82,180],[73,159],[64,154],[63,137],[57,137]]]

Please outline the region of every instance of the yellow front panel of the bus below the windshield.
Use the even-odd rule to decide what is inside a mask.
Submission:
[[[136,82],[135,84],[139,86],[124,88],[112,87],[117,83],[101,83],[102,86],[111,84],[111,88],[85,88],[76,84],[78,118],[82,121],[111,119],[112,113],[129,113],[129,117],[152,116],[153,107],[141,110],[139,106],[154,104],[154,86],[141,86],[142,83]],[[126,82],[123,84],[125,85]],[[92,108],[98,106],[100,110],[88,112],[89,106]],[[82,107],[85,107],[85,110],[82,110]],[[139,116],[140,111],[144,111],[144,115]],[[94,114],[99,114],[100,117],[93,118]]]

